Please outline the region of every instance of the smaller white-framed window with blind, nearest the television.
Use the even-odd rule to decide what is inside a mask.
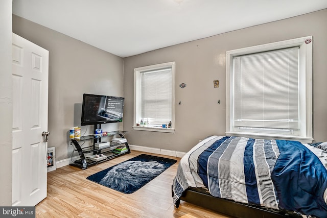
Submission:
[[[174,132],[174,102],[175,62],[134,69],[134,130]]]

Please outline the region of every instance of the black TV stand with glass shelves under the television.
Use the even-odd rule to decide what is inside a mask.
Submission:
[[[97,127],[95,126],[95,129]],[[100,127],[99,127],[100,128]],[[103,135],[87,135],[87,136],[81,136],[81,138],[79,139],[71,139],[72,142],[75,145],[75,151],[78,152],[80,159],[79,160],[75,160],[73,163],[69,164],[72,166],[77,166],[81,169],[86,169],[88,166],[92,166],[92,165],[96,165],[98,163],[110,160],[114,157],[123,155],[123,154],[129,154],[131,153],[129,146],[128,146],[128,142],[112,142],[109,141],[110,137],[113,137],[115,135],[118,135],[120,138],[125,139],[124,135],[126,134],[126,131],[112,131],[112,132],[108,132],[108,134],[106,136]],[[96,147],[95,144],[101,142],[101,139],[107,139],[108,140],[108,144],[104,147]],[[81,141],[86,141],[86,140],[93,140],[92,145],[88,146],[88,147],[83,147],[81,148],[80,143]],[[125,145],[127,150],[122,151],[121,153],[116,153],[116,151],[114,149],[116,149],[117,147],[123,146]],[[113,152],[114,151],[114,152]],[[91,160],[90,157],[85,157],[84,154],[89,154],[91,153],[93,156],[95,155],[100,155],[103,154],[106,156],[106,158],[101,158],[101,160]]]

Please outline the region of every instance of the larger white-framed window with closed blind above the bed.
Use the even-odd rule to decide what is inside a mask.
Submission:
[[[226,52],[226,135],[312,142],[311,39]]]

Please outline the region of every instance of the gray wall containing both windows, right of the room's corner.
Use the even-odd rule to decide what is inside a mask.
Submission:
[[[313,136],[315,141],[327,141],[326,23],[327,9],[124,58],[124,130],[129,131],[129,142],[187,152],[199,139],[225,135],[225,52],[309,35],[313,36]],[[170,61],[176,62],[175,133],[134,131],[133,69]],[[217,79],[219,88],[214,88]],[[186,87],[179,88],[180,83]]]

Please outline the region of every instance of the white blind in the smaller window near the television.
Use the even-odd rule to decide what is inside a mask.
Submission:
[[[172,120],[172,68],[141,73],[141,116],[150,124]]]

